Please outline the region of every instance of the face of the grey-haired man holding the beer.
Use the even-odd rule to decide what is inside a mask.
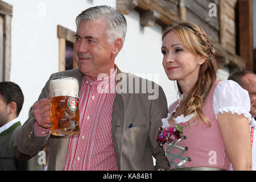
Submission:
[[[96,78],[100,73],[114,69],[113,44],[109,44],[102,19],[81,20],[76,31],[75,58],[80,71]]]

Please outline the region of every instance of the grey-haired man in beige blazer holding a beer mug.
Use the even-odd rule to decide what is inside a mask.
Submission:
[[[78,15],[76,24],[74,53],[79,68],[51,75],[15,138],[17,158],[31,158],[50,139],[49,170],[153,170],[152,155],[155,169],[167,169],[156,142],[160,119],[168,112],[162,88],[122,73],[114,64],[125,40],[125,17],[112,7],[96,6]],[[49,134],[49,82],[58,76],[79,81],[79,135]],[[148,99],[152,93],[148,89],[141,93],[145,82],[147,88],[154,85],[154,99]]]

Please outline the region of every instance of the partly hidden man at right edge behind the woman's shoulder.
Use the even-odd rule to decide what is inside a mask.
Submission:
[[[249,93],[251,101],[250,114],[253,120],[250,123],[251,140],[252,140],[252,156],[253,156],[253,170],[256,170],[256,146],[255,146],[255,117],[256,117],[256,75],[250,71],[237,71],[232,73],[228,80],[236,81],[243,89]]]

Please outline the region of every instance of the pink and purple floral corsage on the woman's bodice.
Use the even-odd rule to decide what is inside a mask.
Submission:
[[[183,134],[182,127],[180,125],[176,125],[175,127],[160,127],[158,138],[158,144],[162,147],[164,143],[172,143],[175,139],[179,139]]]

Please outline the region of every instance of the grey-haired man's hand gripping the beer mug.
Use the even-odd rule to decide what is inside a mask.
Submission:
[[[51,127],[50,120],[51,104],[48,98],[43,98],[34,104],[33,114],[39,126],[49,129]]]

